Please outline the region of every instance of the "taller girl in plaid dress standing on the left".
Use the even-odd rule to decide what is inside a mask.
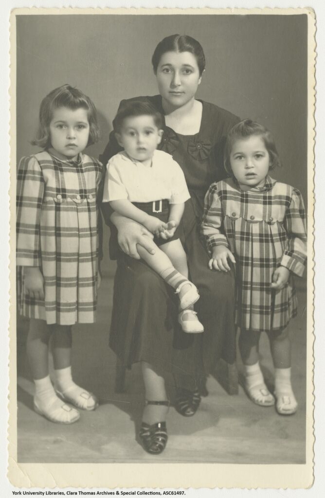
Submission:
[[[18,306],[30,319],[27,356],[35,382],[34,409],[70,424],[98,406],[71,376],[71,326],[95,321],[98,273],[97,195],[102,165],[82,154],[99,138],[96,109],[63,85],[42,101],[34,145],[17,175]],[[52,337],[55,382],[48,373]]]

